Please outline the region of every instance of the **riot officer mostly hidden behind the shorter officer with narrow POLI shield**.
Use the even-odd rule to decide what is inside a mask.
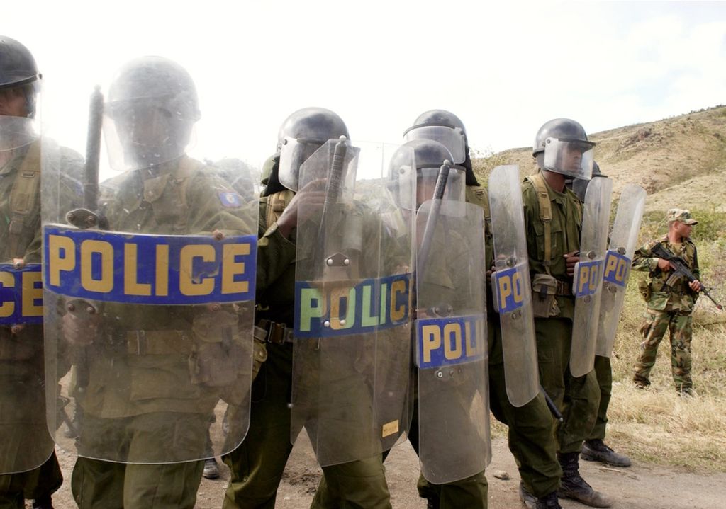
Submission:
[[[438,139],[449,152],[457,154],[453,156],[454,164],[462,166],[466,174],[466,202],[476,204],[484,210],[486,237],[484,261],[487,268],[491,267],[493,243],[489,196],[486,188],[480,185],[474,175],[464,124],[457,115],[443,109],[433,109],[423,113],[414,124],[404,136],[411,133],[412,138]],[[416,126],[423,129],[415,129]],[[486,305],[489,338],[489,405],[494,417],[509,427],[508,445],[518,464],[521,498],[530,509],[559,508],[557,488],[562,469],[557,461],[556,443],[552,436],[554,422],[552,415],[542,394],[538,394],[534,400],[521,407],[515,407],[509,401],[505,386],[499,317],[492,307],[489,285],[487,285]],[[526,423],[526,426],[523,423]],[[483,475],[481,478],[481,481],[486,483]],[[441,487],[433,487],[421,477],[418,489],[420,495],[429,500],[429,507],[441,507]]]

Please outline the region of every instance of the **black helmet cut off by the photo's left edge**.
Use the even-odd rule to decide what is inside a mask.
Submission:
[[[36,95],[42,76],[33,54],[15,39],[0,36],[0,90],[22,87],[28,117],[36,113]]]

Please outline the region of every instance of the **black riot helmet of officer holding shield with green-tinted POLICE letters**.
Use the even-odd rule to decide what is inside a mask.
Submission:
[[[280,166],[277,178],[290,191],[298,191],[300,165],[330,139],[348,138],[348,128],[330,109],[298,109],[285,119],[277,133]],[[270,175],[268,186],[272,185]],[[267,192],[267,191],[266,191]]]

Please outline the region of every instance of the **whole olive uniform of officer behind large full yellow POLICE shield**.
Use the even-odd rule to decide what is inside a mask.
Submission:
[[[102,186],[99,199],[110,230],[163,235],[253,231],[245,210],[221,202],[227,183],[188,157],[155,173],[133,170]],[[83,508],[193,508],[206,452],[206,434],[221,395],[205,365],[223,328],[237,331],[232,309],[136,306],[108,302],[108,317],[90,349],[83,397],[80,455],[102,451],[121,462],[80,457],[73,497]],[[219,347],[221,348],[221,347]],[[213,355],[212,355],[213,357]],[[224,368],[219,368],[224,371]],[[167,463],[178,458],[185,463]],[[143,461],[145,463],[135,463]],[[158,462],[158,464],[150,464]]]

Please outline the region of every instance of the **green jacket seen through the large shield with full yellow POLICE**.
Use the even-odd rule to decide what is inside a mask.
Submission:
[[[254,231],[248,209],[223,204],[220,194],[229,192],[229,185],[201,162],[184,156],[160,165],[156,175],[148,173],[133,170],[102,184],[99,204],[110,231],[211,235],[218,230],[225,236]],[[225,334],[240,344],[235,313],[231,305],[211,310],[104,303],[102,331],[89,347],[84,410],[101,418],[211,412],[249,353],[221,354]]]

